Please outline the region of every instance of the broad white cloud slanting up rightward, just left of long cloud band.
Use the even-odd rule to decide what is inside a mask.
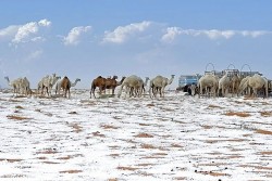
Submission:
[[[123,43],[129,36],[145,31],[150,27],[151,22],[134,23],[127,26],[119,26],[113,31],[106,31],[102,42]]]

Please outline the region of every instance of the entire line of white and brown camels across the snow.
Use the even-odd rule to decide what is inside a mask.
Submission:
[[[13,88],[14,93],[21,94],[32,94],[34,93],[30,90],[30,83],[26,77],[17,78],[13,81],[10,81],[9,77],[4,77],[8,80],[9,86]],[[99,94],[106,94],[106,90],[111,90],[111,95],[114,95],[114,90],[120,86],[120,90],[118,93],[118,98],[121,96],[122,92],[125,92],[125,96],[143,96],[143,93],[146,92],[146,87],[149,81],[149,95],[150,98],[156,98],[159,93],[161,98],[164,96],[165,87],[173,82],[174,75],[171,78],[166,78],[163,76],[157,76],[152,79],[148,77],[144,81],[140,77],[132,75],[128,77],[122,77],[120,81],[118,81],[118,76],[113,76],[112,78],[104,78],[102,76],[98,76],[91,81],[90,86],[90,98],[94,95],[96,98],[96,88],[99,89]],[[55,94],[61,94],[63,91],[63,96],[71,96],[70,89],[71,87],[75,87],[76,83],[81,81],[81,79],[76,79],[74,82],[65,76],[61,79],[60,76],[55,74],[47,75],[44,77],[37,86],[36,94],[45,95],[47,93],[48,96],[51,96],[51,91],[54,87]],[[260,91],[263,92],[263,96],[269,95],[269,87],[271,87],[271,82],[258,75],[242,77],[238,74],[230,75],[225,74],[221,78],[215,76],[214,74],[206,74],[203,75],[197,82],[197,85],[190,85],[189,90],[193,95],[199,94],[201,95],[214,95],[226,96],[228,92],[232,94],[252,94],[257,96]],[[123,91],[124,89],[124,91]]]

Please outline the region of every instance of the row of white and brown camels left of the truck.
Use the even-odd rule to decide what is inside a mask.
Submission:
[[[4,77],[9,83],[10,87],[13,88],[13,92],[15,94],[33,94],[34,92],[30,89],[30,83],[26,77],[24,78],[17,78],[12,81],[10,81],[9,77]],[[99,89],[99,94],[106,93],[107,89],[111,89],[111,94],[114,95],[114,90],[118,86],[121,86],[120,92],[118,93],[118,96],[121,96],[121,93],[123,89],[125,88],[126,95],[129,96],[141,96],[143,92],[145,92],[145,87],[147,86],[148,80],[150,80],[148,77],[146,78],[146,81],[135,75],[123,77],[120,81],[116,80],[118,76],[113,76],[112,78],[104,78],[101,76],[98,76],[91,81],[90,87],[90,98],[91,94],[94,98],[96,98],[95,92],[96,88]],[[168,85],[171,85],[173,82],[174,75],[171,76],[171,78],[166,78],[163,76],[157,76],[153,79],[150,80],[150,86],[152,87],[152,91],[150,91],[153,96],[157,95],[157,93],[160,93],[160,96],[164,96],[164,89]],[[75,87],[76,83],[81,81],[81,79],[76,79],[74,82],[71,82],[71,80],[65,76],[61,79],[60,76],[57,76],[55,74],[47,75],[46,77],[41,78],[41,80],[38,82],[36,94],[45,95],[47,93],[48,96],[51,96],[52,89],[54,87],[55,94],[60,94],[61,91],[63,91],[63,96],[71,96],[70,89],[71,87]]]

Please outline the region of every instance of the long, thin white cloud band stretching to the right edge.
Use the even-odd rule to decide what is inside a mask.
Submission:
[[[163,42],[172,42],[178,35],[187,36],[207,36],[208,38],[215,40],[219,38],[230,39],[234,36],[257,38],[259,36],[271,35],[272,31],[264,30],[218,30],[218,29],[182,29],[180,27],[168,27],[166,33],[161,37]]]

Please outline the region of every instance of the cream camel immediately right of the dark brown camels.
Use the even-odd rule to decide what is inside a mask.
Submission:
[[[135,75],[126,77],[121,85],[118,96],[119,98],[121,96],[124,87],[126,88],[126,94],[129,94],[129,96],[133,93],[131,92],[132,90],[135,91],[135,94],[134,94],[135,96],[136,95],[141,96],[143,86],[144,86],[144,80],[140,77],[135,76]],[[138,94],[137,94],[137,91],[139,92]]]

